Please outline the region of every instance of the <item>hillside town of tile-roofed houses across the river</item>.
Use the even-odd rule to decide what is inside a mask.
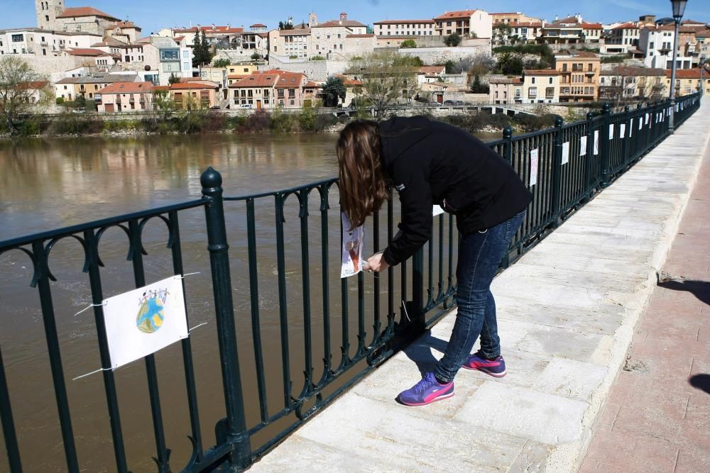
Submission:
[[[653,101],[710,93],[710,26],[673,18],[602,24],[575,14],[433,12],[432,18],[307,15],[280,24],[166,27],[63,0],[35,1],[37,25],[0,30],[0,58],[27,65],[26,101],[48,113],[140,113],[171,107],[249,113],[315,106],[387,108]],[[386,60],[383,60],[386,58]],[[386,97],[370,83],[393,79]],[[393,92],[394,91],[394,92]]]

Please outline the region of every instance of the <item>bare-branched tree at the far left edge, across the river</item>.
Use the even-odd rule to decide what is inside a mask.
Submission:
[[[27,62],[14,55],[0,58],[0,118],[10,133],[18,133],[21,115],[47,99],[47,82],[41,81]]]

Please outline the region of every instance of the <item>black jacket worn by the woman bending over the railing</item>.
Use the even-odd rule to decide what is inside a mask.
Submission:
[[[456,215],[464,235],[515,216],[532,194],[503,157],[455,126],[422,116],[380,123],[382,159],[402,204],[400,234],[384,252],[390,265],[412,256],[432,232],[432,206]]]

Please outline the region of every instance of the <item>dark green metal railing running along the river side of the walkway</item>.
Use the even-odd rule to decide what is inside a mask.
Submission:
[[[526,183],[530,183],[534,170],[532,150],[537,150],[538,155],[536,183],[531,186],[534,199],[501,267],[518,259],[660,143],[668,135],[669,107],[670,103],[663,101],[611,113],[605,106],[600,115],[588,114],[585,121],[564,124],[558,119],[555,128],[515,138],[511,130],[506,129],[503,139],[489,143]],[[676,126],[681,126],[698,107],[697,94],[679,99]],[[189,418],[193,447],[190,460],[182,467],[184,472],[249,467],[454,306],[454,261],[459,236],[450,215],[435,218],[432,239],[409,262],[389,268],[373,279],[365,279],[363,273],[339,279],[332,268],[339,266],[342,235],[336,179],[283,191],[223,197],[222,177],[209,168],[202,174],[201,184],[202,198],[195,201],[0,242],[0,255],[18,251],[31,261],[31,286],[38,289],[53,394],[70,472],[78,472],[82,466],[77,457],[55,321],[51,282],[56,282],[57,278],[49,265],[50,253],[60,240],[77,243],[83,255],[83,271],[87,273],[92,303],[96,304],[94,324],[102,367],[109,368],[104,313],[100,305],[105,296],[102,282],[106,277],[105,269],[102,274],[104,262],[99,255],[102,236],[109,229],[126,236],[133,285],[141,287],[146,284],[144,228],[148,223],[165,226],[171,271],[183,274],[179,216],[190,209],[204,208],[207,241],[201,240],[200,235],[190,235],[190,238],[201,241],[201,247],[206,246],[209,254],[226,417],[215,420],[216,443],[205,450],[192,347],[189,338],[182,340],[185,416]],[[391,240],[398,211],[398,204],[390,200],[386,208],[370,219],[368,251],[380,250]],[[238,242],[241,250],[233,248],[230,252],[228,241]],[[265,252],[275,253],[276,260],[278,310],[273,320],[267,319],[260,304],[263,292],[271,289],[260,284],[263,269],[259,267],[259,255]],[[243,304],[234,304],[232,269],[236,263],[231,258],[235,253],[244,253],[244,258],[239,260],[239,274],[236,274],[246,281],[244,292],[248,296]],[[287,275],[292,273],[297,274],[297,282],[300,282],[300,289],[295,291],[297,296],[294,296],[293,280]],[[288,287],[292,289],[290,293]],[[297,300],[290,300],[294,298]],[[351,306],[353,301],[356,306]],[[237,337],[238,333],[251,335],[251,350],[244,346],[238,350],[237,340],[244,340]],[[280,350],[280,366],[276,368],[266,362],[269,352],[263,345],[265,338],[273,342],[269,352],[273,347]],[[315,352],[322,353],[319,362],[315,362]],[[293,353],[297,356],[292,357]],[[242,368],[245,365],[240,365],[240,359],[241,363],[248,360],[250,366],[253,363],[253,379],[244,379]],[[165,440],[154,355],[146,357],[144,364],[155,440],[154,460],[159,472],[168,472],[176,468],[170,464],[170,449]],[[281,375],[276,390],[270,389],[267,381],[274,369]],[[303,377],[302,384],[294,387],[295,371],[302,372]],[[102,375],[116,470],[128,472],[116,380],[110,369]],[[253,389],[256,396],[246,398],[245,389]],[[0,421],[7,467],[14,473],[22,471],[22,459],[11,392],[21,396],[21,386],[9,385],[0,352]],[[5,468],[0,464],[0,469]]]

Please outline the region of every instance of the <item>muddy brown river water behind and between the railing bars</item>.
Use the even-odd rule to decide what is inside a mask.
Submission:
[[[493,135],[483,139],[496,138]],[[0,241],[43,230],[84,223],[122,213],[199,199],[200,174],[209,165],[222,173],[225,195],[253,194],[295,187],[337,174],[334,145],[337,135],[170,135],[138,138],[52,138],[0,141]],[[337,194],[330,197],[337,206]],[[332,280],[332,316],[339,318],[339,230],[329,234],[332,269],[320,265],[320,203],[312,196],[308,208],[311,279],[320,287],[322,271]],[[244,203],[225,205],[231,246],[232,286],[237,317],[239,356],[243,379],[255,379],[253,342],[249,310],[249,278],[244,235]],[[273,199],[256,204],[256,231],[261,310],[261,340],[264,347],[269,411],[283,407],[278,326],[277,258],[273,254]],[[290,245],[300,227],[298,206],[291,199],[285,208],[285,255],[289,314],[290,356],[293,395],[303,384],[303,322],[300,246]],[[337,218],[337,213],[334,213]],[[234,217],[231,217],[234,215]],[[337,228],[336,223],[330,223]],[[126,261],[127,245],[120,231],[107,231],[100,248],[104,297],[133,289],[131,263]],[[190,335],[195,360],[197,394],[205,448],[214,445],[214,423],[224,417],[224,397],[219,372],[219,351],[214,326],[209,255],[205,251],[204,211],[197,208],[180,215],[180,233],[185,273],[199,272],[185,279],[190,326],[207,323]],[[146,226],[144,245],[148,255],[148,283],[172,274],[170,251],[165,248],[165,230]],[[333,264],[333,262],[335,262]],[[72,412],[77,453],[84,471],[114,471],[108,413],[101,374],[72,381],[72,378],[101,366],[92,311],[75,315],[89,304],[88,279],[82,273],[82,251],[62,240],[53,250],[50,269],[58,281],[52,283],[62,363]],[[65,471],[62,438],[53,396],[48,352],[36,289],[29,286],[31,264],[20,252],[0,255],[0,349],[8,378],[14,422],[18,433],[23,467],[26,471]],[[369,284],[369,282],[368,282]],[[369,284],[365,291],[368,292]],[[314,326],[323,319],[320,289],[312,291]],[[394,289],[393,289],[394,291]],[[348,287],[356,297],[356,286]],[[355,299],[353,299],[355,300]],[[351,312],[356,302],[351,302]],[[304,309],[305,310],[305,309]],[[317,314],[321,314],[318,316]],[[356,346],[356,316],[351,314],[352,347]],[[373,334],[368,320],[368,338]],[[293,330],[293,333],[291,331]],[[314,379],[323,369],[322,328],[314,329]],[[340,361],[340,328],[332,327],[333,360]],[[300,347],[295,348],[295,347]],[[297,360],[297,361],[295,361]],[[156,356],[160,401],[166,443],[173,450],[171,464],[180,469],[190,455],[190,422],[187,416],[185,375],[180,345],[161,350]],[[126,455],[133,472],[155,471],[151,456],[155,442],[148,404],[146,370],[133,362],[115,372]],[[244,382],[249,426],[258,423],[258,399],[253,382]],[[280,403],[280,404],[279,404]],[[283,427],[282,427],[283,428]],[[4,439],[0,433],[0,471],[7,469]]]

